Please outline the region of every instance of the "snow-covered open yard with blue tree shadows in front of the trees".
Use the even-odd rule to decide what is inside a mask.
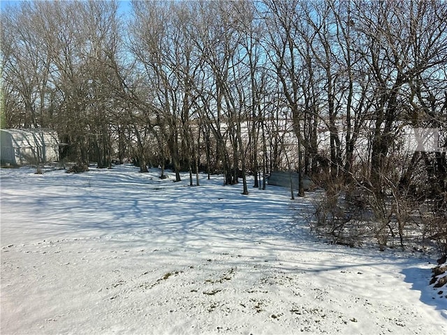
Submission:
[[[435,260],[315,239],[312,193],[34,172],[0,174],[1,334],[447,334]]]

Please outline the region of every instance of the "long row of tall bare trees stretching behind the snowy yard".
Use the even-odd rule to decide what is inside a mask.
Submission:
[[[349,212],[374,207],[377,236],[427,202],[446,232],[445,1],[123,6],[3,7],[1,126],[51,128],[71,161],[131,156],[177,181],[189,170],[191,185],[219,172],[244,194],[248,172],[257,187],[296,170],[328,190],[321,210],[337,236],[352,222],[333,212],[341,196]],[[437,147],[405,151],[409,128],[436,129]]]

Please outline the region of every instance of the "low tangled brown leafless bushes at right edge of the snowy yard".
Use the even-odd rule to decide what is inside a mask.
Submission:
[[[374,192],[369,183],[333,183],[316,203],[311,228],[335,244],[374,242],[381,251],[399,246],[447,254],[447,212],[430,198],[416,198],[390,185]]]

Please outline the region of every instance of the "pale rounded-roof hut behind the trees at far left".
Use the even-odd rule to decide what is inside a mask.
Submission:
[[[26,165],[59,161],[59,138],[42,129],[0,129],[1,164]]]

